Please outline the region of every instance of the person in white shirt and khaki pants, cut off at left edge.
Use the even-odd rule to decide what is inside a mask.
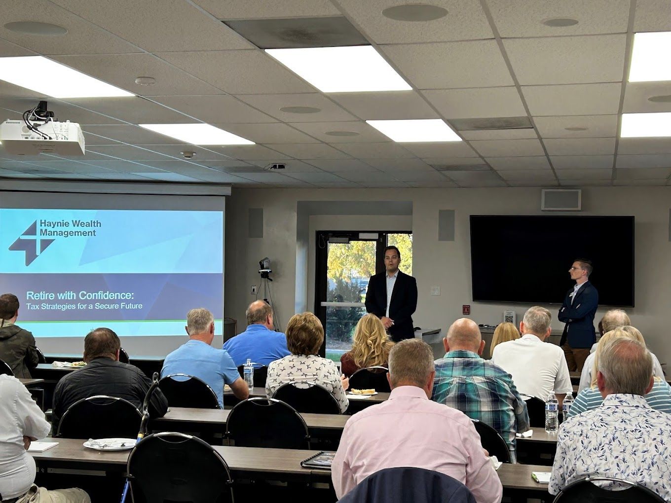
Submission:
[[[3,502],[90,503],[81,489],[48,491],[34,484],[36,466],[26,452],[48,437],[51,425],[17,378],[0,376],[0,494]]]

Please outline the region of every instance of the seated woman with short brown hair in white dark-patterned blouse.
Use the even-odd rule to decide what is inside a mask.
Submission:
[[[330,359],[317,355],[324,341],[321,321],[312,313],[293,315],[287,324],[287,346],[291,355],[276,359],[268,366],[266,396],[287,382],[316,382],[326,388],[338,400],[340,412],[350,404],[345,392],[349,380],[340,376],[338,367]]]

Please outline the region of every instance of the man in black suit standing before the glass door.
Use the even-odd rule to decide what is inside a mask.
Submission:
[[[384,249],[384,272],[370,276],[366,311],[380,317],[395,342],[415,337],[412,315],[417,309],[417,281],[399,271],[401,252],[395,246]]]

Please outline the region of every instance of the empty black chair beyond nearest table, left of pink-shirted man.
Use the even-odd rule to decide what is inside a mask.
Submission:
[[[307,425],[296,409],[274,398],[249,398],[226,421],[226,436],[240,447],[309,449]]]

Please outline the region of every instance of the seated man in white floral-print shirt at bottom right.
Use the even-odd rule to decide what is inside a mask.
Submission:
[[[595,476],[637,482],[671,501],[671,414],[654,410],[643,398],[653,382],[652,357],[645,344],[619,337],[601,347],[597,386],[603,404],[560,426],[550,494]],[[622,488],[611,482],[597,484]]]

